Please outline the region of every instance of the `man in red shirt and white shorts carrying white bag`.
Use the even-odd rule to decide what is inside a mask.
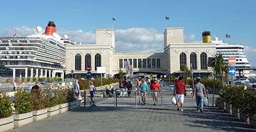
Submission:
[[[184,91],[186,90],[186,85],[182,82],[182,77],[179,77],[179,80],[175,83],[173,96],[175,96],[177,101],[177,110],[183,110],[183,103],[184,103]],[[181,108],[181,109],[180,109]]]

